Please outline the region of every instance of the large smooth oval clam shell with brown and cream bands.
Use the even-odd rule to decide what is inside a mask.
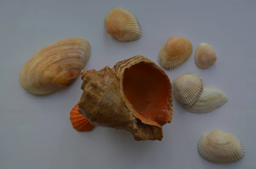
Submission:
[[[48,94],[71,85],[90,57],[82,38],[62,39],[47,45],[23,65],[20,85],[33,94]]]

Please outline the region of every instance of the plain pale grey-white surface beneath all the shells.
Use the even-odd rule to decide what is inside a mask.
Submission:
[[[137,16],[143,36],[118,42],[108,35],[104,18],[125,7]],[[256,168],[256,1],[253,0],[0,0],[0,169],[254,169]],[[193,44],[190,59],[165,70],[171,81],[197,73],[207,87],[228,96],[211,113],[192,114],[174,99],[172,123],[162,141],[134,141],[124,130],[73,129],[69,112],[79,101],[81,76],[67,90],[34,96],[20,87],[23,64],[38,50],[68,37],[91,45],[85,69],[99,70],[131,56],[156,62],[171,36]],[[212,45],[217,61],[195,66],[200,42]],[[198,138],[214,129],[231,132],[245,148],[242,161],[215,164],[197,152]]]

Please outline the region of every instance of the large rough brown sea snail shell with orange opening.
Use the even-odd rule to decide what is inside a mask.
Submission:
[[[172,120],[172,84],[166,73],[144,56],[134,56],[96,70],[82,70],[79,113],[92,125],[130,131],[134,139],[162,140]]]

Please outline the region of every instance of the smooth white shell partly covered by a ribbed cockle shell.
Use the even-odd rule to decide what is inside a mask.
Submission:
[[[184,107],[191,113],[207,113],[218,107],[221,107],[227,102],[227,95],[221,90],[204,87],[203,93],[194,104],[189,107]]]

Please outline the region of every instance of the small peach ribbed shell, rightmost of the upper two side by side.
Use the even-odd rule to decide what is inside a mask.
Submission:
[[[201,69],[209,68],[217,60],[215,51],[207,43],[200,43],[195,51],[195,65]]]

